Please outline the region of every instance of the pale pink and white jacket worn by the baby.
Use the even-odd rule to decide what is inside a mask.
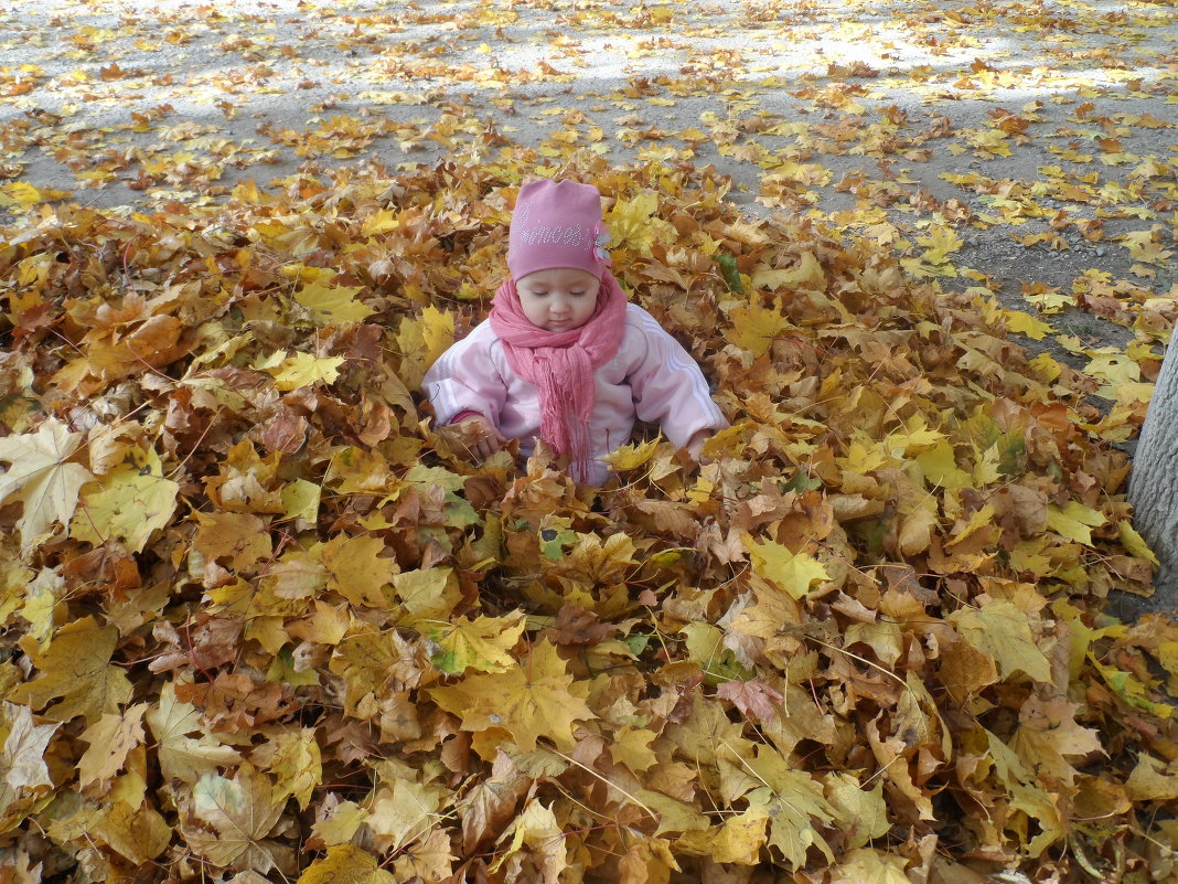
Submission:
[[[702,429],[728,425],[712,401],[703,372],[675,338],[646,310],[626,306],[626,334],[613,359],[594,372],[597,398],[589,417],[590,482],[603,484],[602,457],[630,441],[635,418],[657,423],[682,447]],[[442,354],[422,381],[438,424],[477,411],[530,455],[540,434],[536,385],[516,375],[490,322],[479,323]]]

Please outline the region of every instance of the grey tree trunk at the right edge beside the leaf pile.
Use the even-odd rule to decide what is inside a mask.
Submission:
[[[1133,526],[1162,570],[1151,599],[1131,600],[1136,614],[1178,611],[1178,336],[1166,350],[1133,455],[1129,500]]]

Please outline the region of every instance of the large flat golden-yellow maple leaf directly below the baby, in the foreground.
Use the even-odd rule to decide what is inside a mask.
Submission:
[[[584,701],[589,685],[568,674],[547,640],[505,672],[468,675],[429,693],[438,706],[462,718],[464,730],[503,728],[527,752],[542,737],[570,751],[574,723],[596,718]]]

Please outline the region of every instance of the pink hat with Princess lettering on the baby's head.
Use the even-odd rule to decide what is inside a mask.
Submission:
[[[508,270],[512,279],[554,268],[576,268],[600,278],[610,264],[608,240],[601,193],[591,184],[528,182],[511,216]]]

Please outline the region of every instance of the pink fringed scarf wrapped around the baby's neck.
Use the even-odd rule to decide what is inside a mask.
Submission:
[[[540,435],[569,455],[574,476],[589,475],[589,417],[596,401],[594,371],[617,354],[626,332],[626,292],[608,270],[589,321],[570,331],[545,331],[528,322],[515,281],[491,301],[491,328],[508,364],[540,391]]]

